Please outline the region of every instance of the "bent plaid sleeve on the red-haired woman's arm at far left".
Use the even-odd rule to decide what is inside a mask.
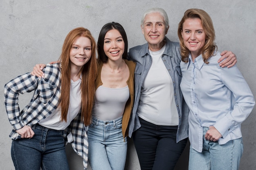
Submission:
[[[4,104],[7,116],[14,130],[21,129],[25,126],[20,118],[18,96],[19,94],[35,90],[37,88],[37,81],[36,76],[26,73],[14,78],[4,86]]]

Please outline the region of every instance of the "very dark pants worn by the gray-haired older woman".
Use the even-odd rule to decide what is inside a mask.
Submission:
[[[141,170],[173,170],[187,138],[176,143],[178,126],[160,126],[139,118],[141,127],[133,133]]]

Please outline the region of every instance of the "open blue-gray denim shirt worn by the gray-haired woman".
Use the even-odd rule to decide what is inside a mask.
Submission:
[[[180,70],[180,45],[177,42],[170,41],[167,37],[165,37],[165,40],[166,48],[164,50],[164,54],[162,55],[162,60],[173,80],[174,98],[179,114],[179,125],[176,142],[179,142],[180,140],[187,138],[189,135],[189,108],[187,107],[180,90],[180,82],[182,79],[182,73]],[[152,58],[148,51],[148,44],[146,43],[141,46],[130,48],[128,59],[136,62],[135,102],[129,122],[129,137],[131,137],[132,132],[136,131],[141,126],[139,117],[136,113],[139,107],[142,83],[152,64]]]

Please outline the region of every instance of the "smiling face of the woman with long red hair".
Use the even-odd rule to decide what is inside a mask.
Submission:
[[[70,49],[70,66],[81,69],[92,56],[91,41],[87,37],[78,37],[75,39]]]

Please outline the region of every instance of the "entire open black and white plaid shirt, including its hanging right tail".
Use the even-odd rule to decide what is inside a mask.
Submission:
[[[61,89],[61,70],[59,63],[47,64],[44,69],[45,78],[32,76],[30,73],[23,74],[9,81],[4,86],[4,103],[7,116],[13,127],[10,134],[11,139],[18,139],[21,136],[16,130],[23,126],[31,126],[49,116],[57,107]],[[34,91],[29,104],[20,111],[18,105],[19,94]],[[88,140],[87,126],[81,120],[81,113],[72,120],[66,129],[72,133],[72,146],[75,152],[83,157],[84,168],[87,169],[88,161]]]

